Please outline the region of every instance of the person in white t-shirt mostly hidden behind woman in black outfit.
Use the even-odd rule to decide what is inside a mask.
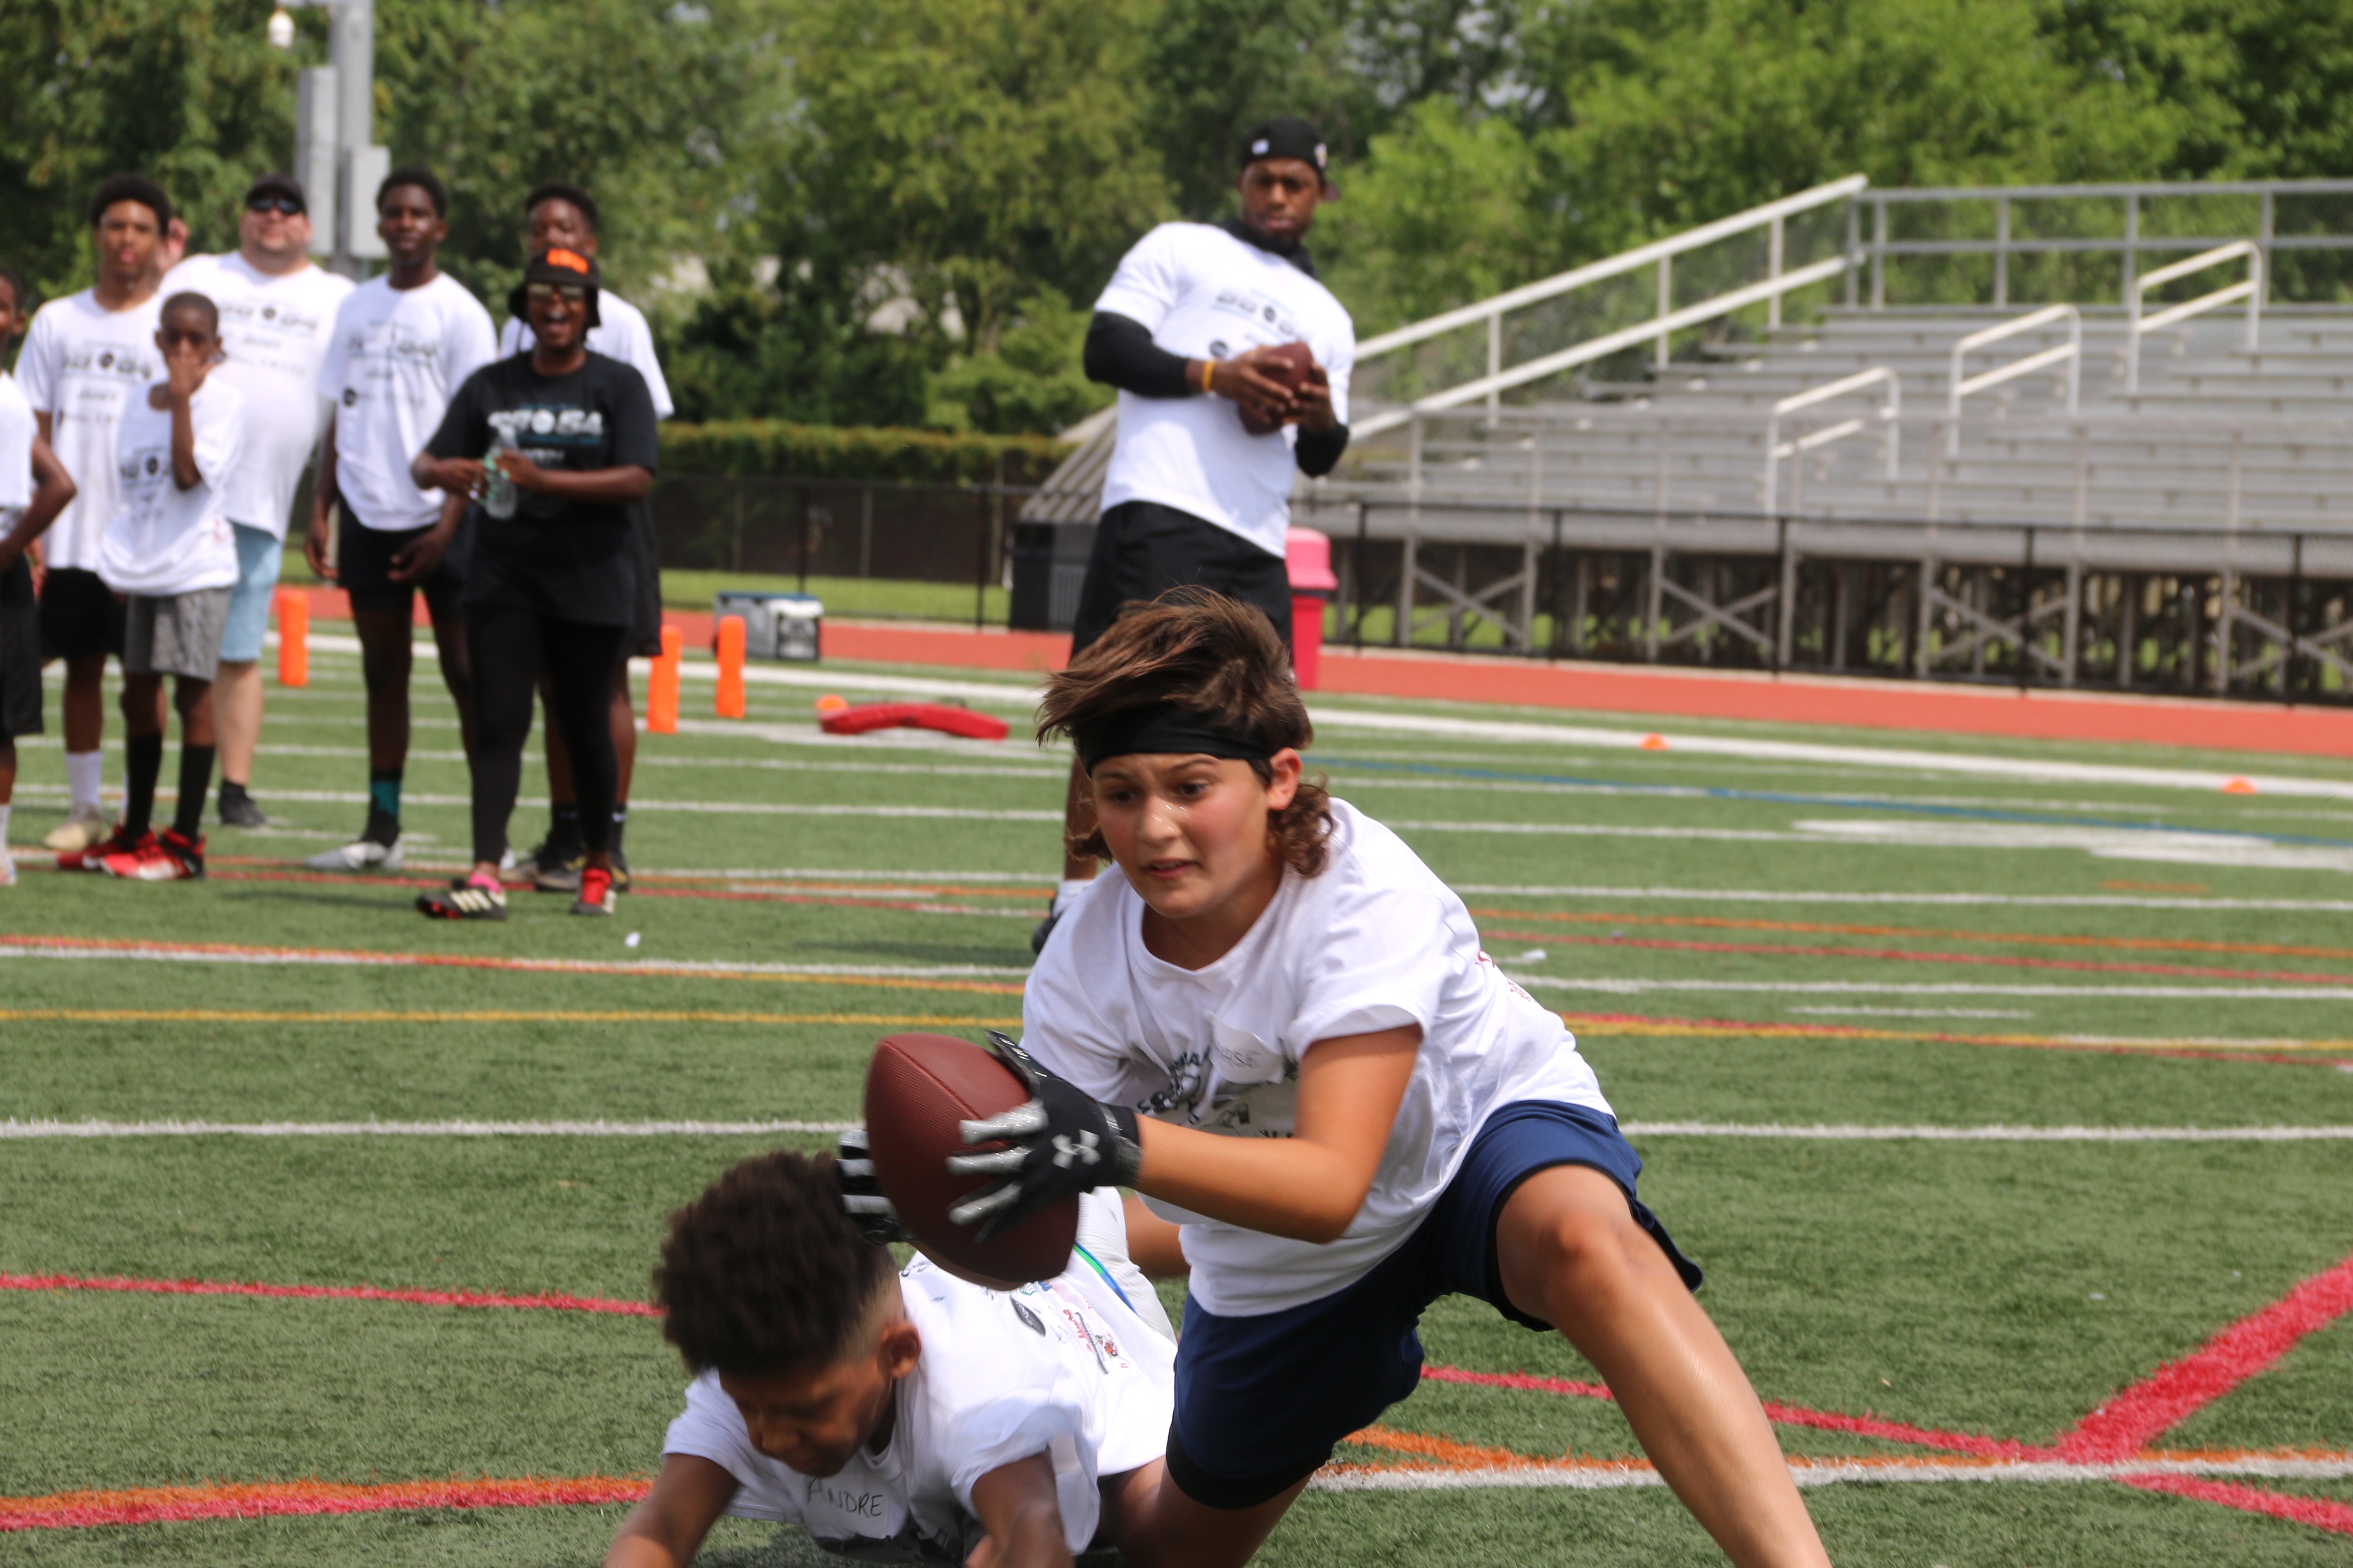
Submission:
[[[569,249],[595,259],[598,209],[595,197],[579,186],[548,181],[522,197],[525,254],[544,249]],[[654,357],[654,329],[645,313],[614,294],[598,289],[598,324],[588,329],[588,348],[633,364],[645,376],[645,390],[654,397],[654,418],[668,418],[671,383],[661,376],[661,360]],[[532,324],[520,315],[506,317],[499,327],[499,353],[518,355],[532,348]],[[612,668],[612,750],[619,764],[612,806],[612,877],[619,891],[628,891],[628,856],[621,851],[621,832],[628,827],[628,785],[638,771],[638,715],[628,701],[628,661],[661,654],[661,557],[654,548],[654,508],[649,501],[633,501],[628,508],[631,562],[638,571],[638,614],[621,646],[621,663]],[[539,682],[539,701],[553,715],[555,701],[548,682]],[[581,884],[588,844],[581,837],[579,792],[572,788],[572,757],[565,752],[565,736],[553,722],[544,726],[548,748],[548,804],[553,820],[539,849],[515,867],[532,879],[541,893],[574,893]]]

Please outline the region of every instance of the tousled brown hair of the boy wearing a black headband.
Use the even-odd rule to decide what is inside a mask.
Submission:
[[[1082,724],[1144,708],[1176,703],[1212,715],[1266,743],[1306,750],[1315,743],[1308,705],[1292,682],[1292,656],[1264,611],[1209,588],[1169,588],[1158,599],[1129,599],[1120,618],[1047,677],[1038,705],[1038,738],[1068,736]],[[1259,783],[1275,771],[1252,759]],[[1266,813],[1266,837],[1275,856],[1301,877],[1320,877],[1332,837],[1332,795],[1322,778],[1301,778],[1292,804]],[[1071,835],[1075,858],[1108,860],[1101,827]]]

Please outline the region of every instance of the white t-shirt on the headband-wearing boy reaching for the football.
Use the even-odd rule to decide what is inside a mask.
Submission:
[[[1205,1220],[1184,1227],[1191,1291],[1219,1316],[1332,1295],[1388,1258],[1454,1180],[1473,1135],[1513,1100],[1609,1112],[1560,1016],[1480,952],[1464,900],[1381,823],[1332,802],[1320,877],[1282,875],[1259,924],[1217,964],[1144,950],[1144,900],[1096,877],[1064,910],[1021,999],[1021,1044],[1096,1100],[1172,1126],[1289,1138],[1299,1058],[1320,1039],[1421,1025],[1365,1206],[1327,1246]]]

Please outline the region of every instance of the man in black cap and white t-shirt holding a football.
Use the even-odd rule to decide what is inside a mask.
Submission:
[[[1282,538],[1292,473],[1327,475],[1348,449],[1355,324],[1315,280],[1304,244],[1332,195],[1322,132],[1268,120],[1242,139],[1242,212],[1226,223],[1162,223],[1120,259],[1087,327],[1087,378],[1120,388],[1120,435],[1104,475],[1104,522],[1071,628],[1075,656],[1129,599],[1200,583],[1254,604],[1292,637]],[[1266,353],[1306,343],[1297,390]],[[1245,428],[1245,414],[1264,430]],[[1094,832],[1087,773],[1071,764],[1054,907],[1031,936],[1045,950],[1064,907],[1094,879],[1068,851]]]

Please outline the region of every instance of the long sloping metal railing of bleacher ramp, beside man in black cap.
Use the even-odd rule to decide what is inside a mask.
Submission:
[[[1499,402],[1501,393],[1506,393],[1506,390],[1511,390],[1515,386],[1527,386],[1529,381],[1541,381],[1546,376],[1558,376],[1565,369],[1574,369],[1579,364],[1591,364],[1593,360],[1602,360],[1607,355],[1619,353],[1621,348],[1631,348],[1631,346],[1642,343],[1642,341],[1657,341],[1657,346],[1659,346],[1659,364],[1666,364],[1668,336],[1671,334],[1682,331],[1685,327],[1697,327],[1699,322],[1715,320],[1718,315],[1727,315],[1727,313],[1739,310],[1744,306],[1765,303],[1767,306],[1767,317],[1769,317],[1767,324],[1779,327],[1781,324],[1781,299],[1786,294],[1793,294],[1798,289],[1807,289],[1807,287],[1812,287],[1817,282],[1828,282],[1831,277],[1840,277],[1840,275],[1849,273],[1857,266],[1857,254],[1849,249],[1849,252],[1845,252],[1840,256],[1833,256],[1828,261],[1817,261],[1817,263],[1802,266],[1802,268],[1798,268],[1793,273],[1784,273],[1781,270],[1781,254],[1784,254],[1784,226],[1786,226],[1786,221],[1793,214],[1812,212],[1814,207],[1828,207],[1831,202],[1852,200],[1868,183],[1871,183],[1871,179],[1864,176],[1864,174],[1849,174],[1847,179],[1833,179],[1833,181],[1828,181],[1824,186],[1814,186],[1812,190],[1800,190],[1798,195],[1786,195],[1779,202],[1765,202],[1762,207],[1751,207],[1748,212],[1737,212],[1729,219],[1718,219],[1715,223],[1701,223],[1699,228],[1689,228],[1689,230],[1685,230],[1680,235],[1673,235],[1668,240],[1654,240],[1649,244],[1638,244],[1635,249],[1621,252],[1617,256],[1609,256],[1607,261],[1595,261],[1595,263],[1588,263],[1588,266],[1581,266],[1581,268],[1572,268],[1567,273],[1555,273],[1553,277],[1546,277],[1541,282],[1532,282],[1532,284],[1525,284],[1525,287],[1518,287],[1518,289],[1506,289],[1504,294],[1497,294],[1492,299],[1482,299],[1478,303],[1471,303],[1471,306],[1461,306],[1459,310],[1447,310],[1442,315],[1433,315],[1428,320],[1412,322],[1409,327],[1398,327],[1395,331],[1384,331],[1381,336],[1367,339],[1367,341],[1358,343],[1358,348],[1355,348],[1355,364],[1358,367],[1362,367],[1367,360],[1377,360],[1377,357],[1381,357],[1386,353],[1395,353],[1400,348],[1409,348],[1412,343],[1424,343],[1424,341],[1442,336],[1447,331],[1457,331],[1461,327],[1475,327],[1475,324],[1485,322],[1487,324],[1487,374],[1480,376],[1480,378],[1475,378],[1475,381],[1466,381],[1461,386],[1447,388],[1442,393],[1431,393],[1428,397],[1419,397],[1414,404],[1409,404],[1405,409],[1386,409],[1381,414],[1374,414],[1374,416],[1369,416],[1369,418],[1365,418],[1365,421],[1360,421],[1355,425],[1355,435],[1358,437],[1379,435],[1381,430],[1393,430],[1393,428],[1402,425],[1405,421],[1409,421],[1414,416],[1414,411],[1452,409],[1452,407],[1461,407],[1466,402],[1478,402],[1482,397],[1487,400],[1489,411],[1499,411],[1501,409],[1501,402]],[[1767,263],[1765,263],[1767,266],[1767,275],[1765,275],[1765,280],[1755,282],[1755,284],[1748,284],[1744,289],[1732,289],[1729,294],[1718,294],[1715,299],[1701,301],[1699,306],[1685,306],[1682,310],[1673,310],[1671,301],[1673,301],[1673,287],[1675,287],[1675,270],[1673,270],[1675,268],[1675,256],[1680,256],[1685,252],[1701,249],[1706,244],[1715,244],[1718,240],[1727,240],[1727,237],[1739,235],[1739,233],[1748,233],[1753,228],[1765,228],[1767,230],[1767,249],[1765,249],[1765,254],[1767,254]],[[1852,223],[1849,223],[1849,228],[1852,228]],[[1652,268],[1652,266],[1659,270],[1659,313],[1652,320],[1642,322],[1640,327],[1628,327],[1624,331],[1612,331],[1612,334],[1605,334],[1600,339],[1588,339],[1588,341],[1574,343],[1574,346],[1569,346],[1565,350],[1558,350],[1558,353],[1529,360],[1525,364],[1515,364],[1511,369],[1504,369],[1504,331],[1501,331],[1501,322],[1504,322],[1504,315],[1508,310],[1518,310],[1522,306],[1534,306],[1534,303],[1541,303],[1546,299],[1558,299],[1562,294],[1572,294],[1572,292],[1584,289],[1588,284],[1605,282],[1609,277],[1624,277],[1626,273],[1638,273],[1638,270]]]

